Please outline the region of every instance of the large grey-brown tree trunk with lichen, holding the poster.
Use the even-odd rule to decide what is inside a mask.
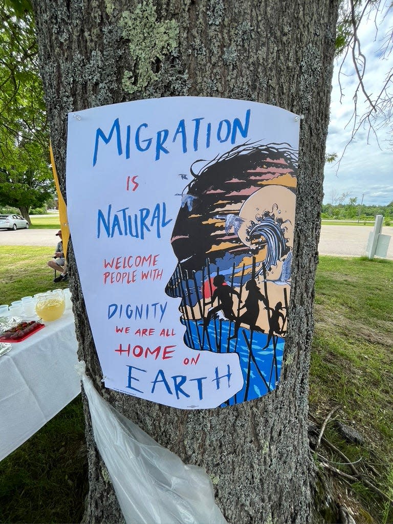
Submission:
[[[64,196],[69,111],[200,95],[264,102],[304,115],[289,328],[280,385],[263,399],[225,409],[183,411],[104,389],[72,247],[69,250],[79,357],[95,387],[161,445],[214,477],[216,502],[229,522],[312,521],[308,377],[338,3],[162,0],[154,3],[156,13],[146,10],[145,18],[139,9],[130,35],[124,20],[137,2],[33,1]],[[151,6],[151,0],[143,5]],[[178,38],[178,49],[163,58],[157,51],[162,60],[149,58],[146,63],[144,28],[155,17],[156,27],[176,21],[178,33],[172,37]],[[160,38],[157,31],[162,51]],[[121,511],[94,446],[86,403],[85,413],[90,480],[85,520],[119,522]]]

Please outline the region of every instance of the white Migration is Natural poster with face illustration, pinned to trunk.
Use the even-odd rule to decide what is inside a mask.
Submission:
[[[69,114],[72,244],[105,387],[182,409],[279,383],[299,117],[170,97]]]

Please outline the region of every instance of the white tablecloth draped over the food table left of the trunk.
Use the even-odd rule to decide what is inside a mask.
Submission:
[[[70,309],[0,357],[0,460],[23,444],[81,391]]]

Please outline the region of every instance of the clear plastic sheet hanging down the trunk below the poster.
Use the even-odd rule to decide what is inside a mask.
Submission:
[[[89,400],[94,439],[127,524],[225,524],[208,474],[187,466],[118,413],[77,366]]]

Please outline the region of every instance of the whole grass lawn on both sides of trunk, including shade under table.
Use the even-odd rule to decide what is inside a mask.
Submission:
[[[46,262],[52,248],[0,246],[0,303],[58,287]],[[64,287],[66,285],[63,285]],[[359,472],[393,497],[393,262],[320,257],[310,414]],[[338,419],[357,429],[363,445],[346,442]],[[321,453],[345,473],[344,460]],[[315,456],[315,461],[319,459]],[[389,506],[361,481],[335,479],[357,524],[393,522]],[[86,493],[80,397],[0,462],[0,522],[80,522]]]

